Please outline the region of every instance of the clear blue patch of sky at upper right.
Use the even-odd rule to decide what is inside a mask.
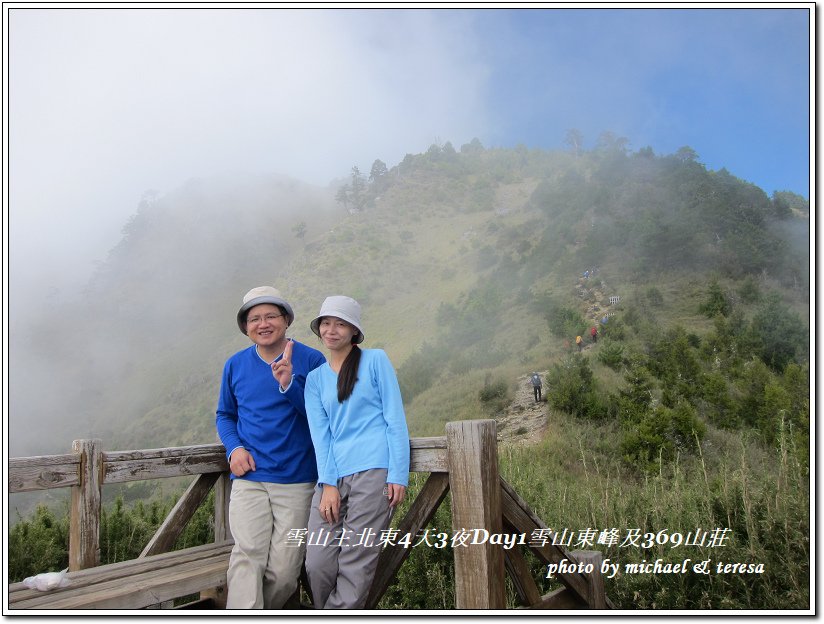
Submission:
[[[578,128],[631,150],[689,145],[768,194],[809,198],[809,12],[579,9],[481,12],[492,143],[557,148]]]

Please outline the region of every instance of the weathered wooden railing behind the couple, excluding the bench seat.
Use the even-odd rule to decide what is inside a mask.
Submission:
[[[452,494],[453,532],[477,529],[489,535],[530,535],[540,530],[544,535],[551,534],[526,502],[500,478],[494,420],[450,422],[446,436],[413,438],[410,447],[410,470],[430,474],[399,521],[399,534],[417,535],[432,520],[447,492]],[[12,458],[8,470],[11,493],[71,488],[70,571],[100,564],[101,489],[110,483],[196,475],[140,558],[168,552],[212,488],[215,488],[215,542],[231,541],[228,514],[231,483],[223,445],[111,452],[102,451],[99,440],[77,440],[72,451],[66,455]],[[457,546],[452,549],[456,608],[505,608],[507,572],[522,606],[612,608],[604,594],[599,553],[573,553],[551,541],[530,543],[524,548],[545,565],[566,560],[572,568],[573,564],[586,560],[596,564],[595,572],[589,575],[559,573],[557,577],[563,587],[542,596],[519,547],[504,549],[488,540]],[[409,554],[408,545],[387,545],[382,550],[367,607],[378,604]],[[56,598],[61,591],[56,590]],[[22,599],[20,604],[24,604]]]

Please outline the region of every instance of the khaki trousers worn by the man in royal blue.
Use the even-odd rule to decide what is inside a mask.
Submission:
[[[227,609],[280,609],[295,592],[306,546],[289,531],[306,528],[314,485],[232,480]]]

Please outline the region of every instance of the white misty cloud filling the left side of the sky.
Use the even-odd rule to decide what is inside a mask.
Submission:
[[[469,141],[488,125],[485,73],[456,17],[14,12],[13,288],[88,274],[148,189],[231,171],[325,185],[439,136]]]

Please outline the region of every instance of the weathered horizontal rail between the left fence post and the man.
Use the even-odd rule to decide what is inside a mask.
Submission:
[[[105,455],[105,483],[184,477],[228,472],[222,444],[200,444],[144,451],[117,451]]]

